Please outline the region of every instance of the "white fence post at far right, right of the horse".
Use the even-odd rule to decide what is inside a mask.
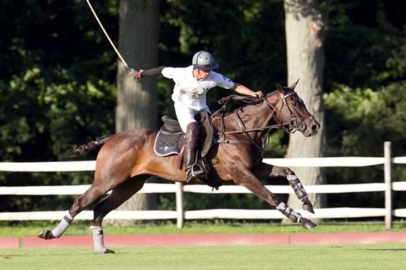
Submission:
[[[385,173],[385,226],[386,228],[392,228],[392,179],[390,178],[392,153],[390,142],[385,142],[383,145],[383,154],[383,171]]]

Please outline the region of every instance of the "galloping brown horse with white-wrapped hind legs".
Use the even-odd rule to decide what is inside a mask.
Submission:
[[[316,135],[320,128],[294,91],[297,82],[289,87],[277,85],[274,92],[261,99],[251,98],[249,104],[229,113],[213,114],[211,121],[217,139],[206,158],[210,161],[208,178],[213,179],[212,183],[217,186],[225,183],[243,186],[292,222],[311,229],[317,226],[316,223],[281,202],[260,181],[286,178],[297,198],[303,202],[302,208],[314,213],[306,190],[294,171],[262,161],[263,139],[273,128],[282,128],[287,133],[298,130],[306,137]],[[42,231],[37,236],[45,240],[59,238],[80,211],[111,190],[109,195],[95,204],[91,228],[95,251],[100,254],[114,253],[105,247],[102,231],[102,220],[110,211],[141,190],[150,176],[186,182],[185,168],[179,167],[179,156],[160,157],[154,153],[157,133],[158,130],[137,128],[100,137],[77,147],[78,154],[98,149],[93,183],[73,201],[54,230]]]

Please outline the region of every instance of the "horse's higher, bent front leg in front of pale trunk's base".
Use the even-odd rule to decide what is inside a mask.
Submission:
[[[292,171],[290,168],[262,163],[261,166],[256,168],[255,175],[260,179],[276,177],[286,178],[296,197],[303,202],[301,208],[310,212],[311,214],[314,214],[313,204],[311,204],[309,196],[307,195],[306,190],[304,190],[304,186],[301,184],[294,171]]]

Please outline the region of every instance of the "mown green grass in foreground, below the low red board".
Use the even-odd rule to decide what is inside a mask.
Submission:
[[[0,249],[1,269],[406,269],[406,246],[384,245],[239,245]]]

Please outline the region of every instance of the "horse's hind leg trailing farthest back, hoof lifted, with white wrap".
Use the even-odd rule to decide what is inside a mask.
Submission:
[[[42,231],[37,236],[45,240],[61,237],[61,235],[66,231],[68,226],[73,221],[73,218],[107,191],[108,189],[102,188],[100,185],[95,185],[95,183],[93,183],[90,188],[83,193],[83,195],[73,201],[71,208],[66,211],[64,218],[61,219],[59,224],[52,231]]]

